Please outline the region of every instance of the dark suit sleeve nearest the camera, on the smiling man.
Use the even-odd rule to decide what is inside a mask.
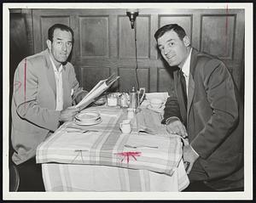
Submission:
[[[239,119],[238,101],[230,72],[218,59],[207,62],[201,71],[201,79],[207,94],[205,102],[210,105],[212,115],[192,140],[191,146],[202,158],[207,159],[236,127]]]

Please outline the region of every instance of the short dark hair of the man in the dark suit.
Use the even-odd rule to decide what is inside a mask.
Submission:
[[[183,38],[186,36],[186,32],[184,29],[177,24],[168,24],[160,27],[155,33],[154,38],[155,40],[158,40],[158,38],[162,37],[167,31],[175,31],[177,33],[177,36],[183,40]]]

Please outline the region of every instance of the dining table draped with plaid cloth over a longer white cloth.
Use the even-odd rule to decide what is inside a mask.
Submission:
[[[177,192],[189,178],[183,164],[184,140],[161,124],[163,114],[142,105],[131,121],[131,133],[119,124],[127,109],[91,106],[101,121],[79,125],[67,121],[38,145],[46,192]]]

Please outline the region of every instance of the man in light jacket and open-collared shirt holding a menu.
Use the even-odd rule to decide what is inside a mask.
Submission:
[[[48,31],[47,49],[23,59],[15,70],[11,139],[19,191],[44,191],[41,166],[35,160],[38,144],[61,122],[73,119],[79,109],[72,104],[86,94],[67,62],[72,48],[72,29],[55,24]]]

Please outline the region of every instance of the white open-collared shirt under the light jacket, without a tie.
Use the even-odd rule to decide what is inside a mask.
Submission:
[[[55,72],[56,83],[56,108],[55,110],[63,110],[63,86],[62,86],[62,65],[57,70],[53,60],[49,57]]]

